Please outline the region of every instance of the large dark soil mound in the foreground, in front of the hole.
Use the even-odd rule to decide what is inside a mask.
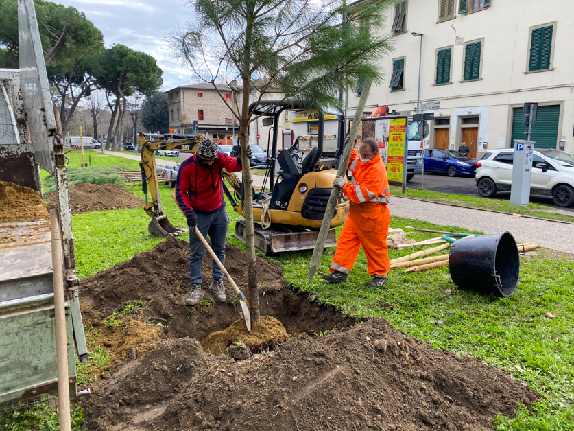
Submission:
[[[538,394],[382,318],[240,362],[166,340],[93,387],[89,430],[492,430]]]

